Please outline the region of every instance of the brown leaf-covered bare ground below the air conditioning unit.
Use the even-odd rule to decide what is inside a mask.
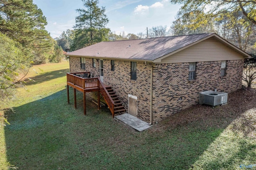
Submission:
[[[195,105],[180,111],[156,124],[153,131],[172,130],[187,124],[200,124],[201,129],[226,128],[232,125],[234,130],[246,136],[256,137],[256,89],[243,88],[228,93],[228,104],[211,107]]]

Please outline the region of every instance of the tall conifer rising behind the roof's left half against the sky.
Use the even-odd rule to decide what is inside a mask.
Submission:
[[[89,43],[97,42],[94,40],[95,34],[105,28],[108,24],[108,18],[105,14],[105,7],[99,8],[98,0],[82,0],[84,9],[76,10],[79,16],[76,17],[75,29],[78,30],[78,36],[82,32],[86,36],[89,34]]]

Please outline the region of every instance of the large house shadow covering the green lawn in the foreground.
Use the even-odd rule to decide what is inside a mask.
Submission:
[[[107,108],[98,111],[96,105],[87,105],[84,116],[82,93],[77,93],[78,109],[72,105],[72,93],[70,105],[63,90],[7,114],[11,123],[5,128],[8,162],[20,169],[189,169],[208,148],[215,147],[212,144],[234,120],[252,109],[245,103],[255,102],[240,101],[243,92],[238,91],[229,94],[228,105],[196,105],[136,132],[112,119]],[[239,153],[230,151],[228,162],[236,154],[242,160],[255,148],[254,143],[242,144]],[[220,162],[212,159],[202,167],[228,167],[228,162]]]

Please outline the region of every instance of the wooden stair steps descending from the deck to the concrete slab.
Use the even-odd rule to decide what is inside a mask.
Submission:
[[[106,87],[106,89],[107,89],[107,93],[110,95],[110,97],[114,101],[114,115],[126,112],[126,109],[124,109],[124,106],[122,105],[121,101],[119,100],[119,97],[117,97],[116,92],[114,92],[112,87],[108,86]]]

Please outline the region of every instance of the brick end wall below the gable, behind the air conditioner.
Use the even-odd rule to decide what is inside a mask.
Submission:
[[[197,62],[196,80],[188,81],[189,63],[156,64],[153,69],[153,121],[160,121],[199,102],[199,93],[241,88],[243,60],[230,60],[220,77],[221,61]]]

